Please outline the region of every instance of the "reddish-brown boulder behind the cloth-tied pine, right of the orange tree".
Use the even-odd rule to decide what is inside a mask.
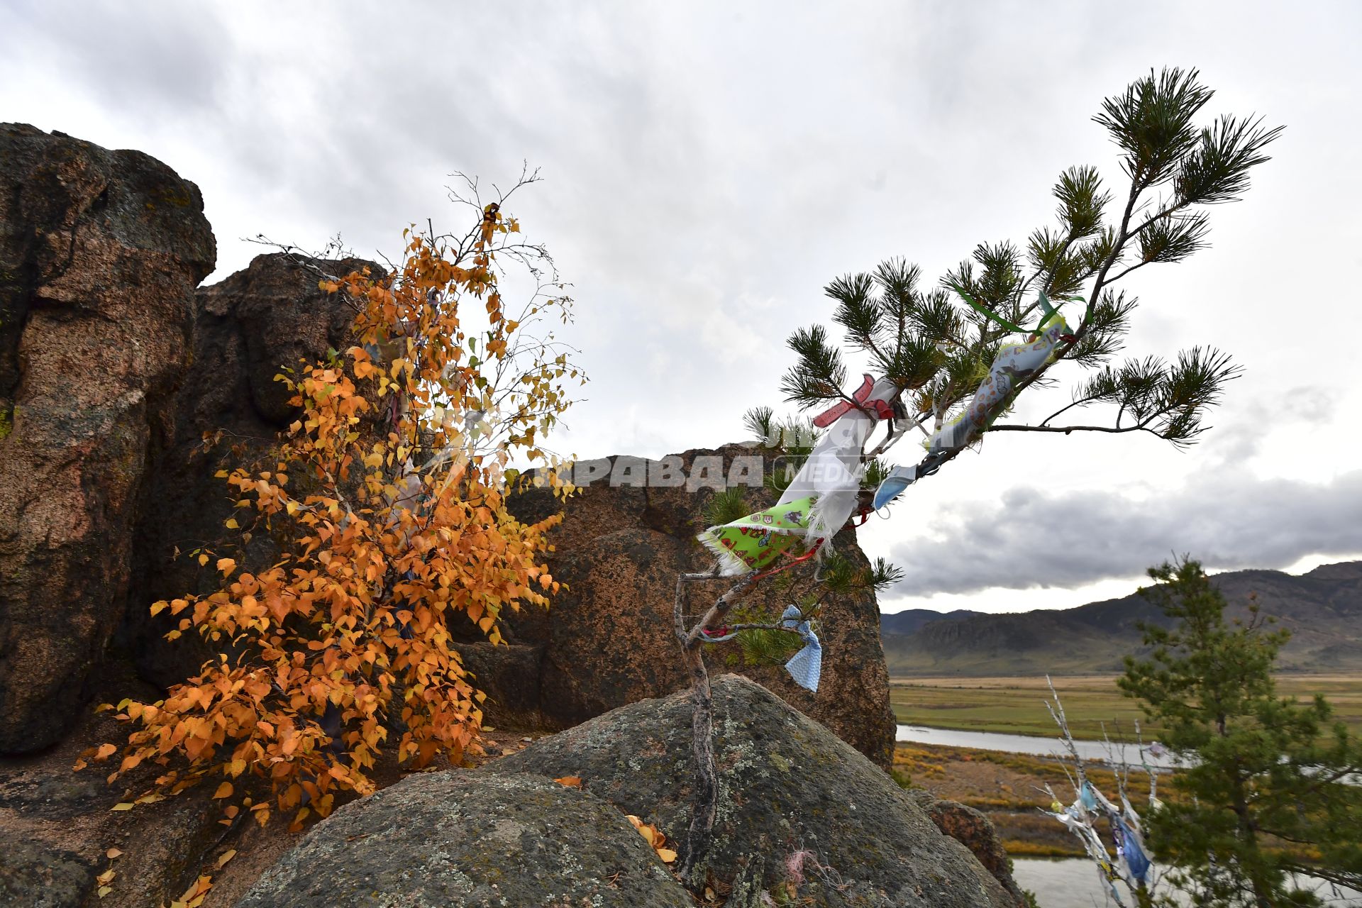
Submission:
[[[582,491],[564,508],[543,490],[513,500],[526,520],[560,508],[564,520],[549,539],[549,568],[567,588],[543,611],[508,619],[508,638],[539,656],[538,715],[568,727],[616,707],[662,697],[689,685],[673,632],[677,574],[712,562],[695,535],[704,528],[704,505],[725,482],[748,482],[748,504],[774,504],[763,476],[776,460],[756,447],[726,445],[688,451],[662,460],[613,457],[579,464]],[[680,481],[678,481],[680,478]],[[594,479],[594,481],[592,481]],[[853,564],[866,565],[846,531],[836,547]],[[688,584],[688,611],[697,617],[733,579]],[[752,614],[779,614],[786,600],[775,583],[763,583],[744,600]],[[889,675],[880,644],[880,610],[872,594],[828,595],[821,607],[823,679],[817,694],[795,685],[782,666],[746,664],[737,644],[707,651],[711,666],[742,672],[786,702],[832,728],[881,766],[893,753]],[[488,659],[478,683],[501,704],[526,702],[519,664],[498,671]],[[512,668],[508,666],[508,668]],[[512,709],[515,712],[515,709]]]

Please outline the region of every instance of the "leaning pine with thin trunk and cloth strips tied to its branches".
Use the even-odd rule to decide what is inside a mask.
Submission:
[[[1103,101],[1094,120],[1121,151],[1124,188],[1114,195],[1096,167],[1069,167],[1054,185],[1058,223],[1036,229],[1026,244],[979,244],[936,287],[923,280],[918,265],[896,257],[824,289],[844,347],[825,325],[799,328],[787,340],[795,361],[780,389],[801,410],[847,406],[868,412],[849,393],[861,383],[851,380],[855,373],[847,354],[892,383],[892,399],[885,402],[893,412],[884,419],[888,434],[873,447],[868,440],[861,452],[862,512],[869,510],[874,485],[885,472],[877,459],[918,430],[928,437],[928,449],[913,455],[921,457],[914,481],[934,474],[992,432],[1140,432],[1186,447],[1207,429],[1208,408],[1239,374],[1227,354],[1190,347],[1171,361],[1148,357],[1111,363],[1111,358],[1122,348],[1137,305],[1115,285],[1139,268],[1182,261],[1204,249],[1208,208],[1237,201],[1248,191],[1250,170],[1268,161],[1265,148],[1282,132],[1264,127],[1258,117],[1222,116],[1199,127],[1197,116],[1212,94],[1196,69],[1170,68],[1151,71]],[[1053,346],[1035,368],[1007,366],[1000,355],[1039,350],[1041,338]],[[1007,419],[1017,395],[1032,385],[1053,388],[1065,363],[1090,370],[1073,383],[1069,403],[1035,423]],[[986,385],[997,399],[985,393]],[[1105,407],[1110,421],[1056,422],[1088,406]],[[956,430],[966,419],[967,430]],[[755,407],[746,423],[785,463],[799,466],[809,455],[813,433],[806,421],[780,421],[771,407]],[[812,565],[804,569],[813,570]],[[716,815],[712,704],[701,647],[710,632],[727,626],[730,610],[761,573],[735,576],[737,584],[691,623],[685,584],[719,576],[716,565],[677,581],[676,633],[696,690],[696,794],[681,867],[688,881],[703,875]],[[880,564],[862,581],[874,587],[892,577],[893,568]],[[775,619],[744,626],[780,628]]]

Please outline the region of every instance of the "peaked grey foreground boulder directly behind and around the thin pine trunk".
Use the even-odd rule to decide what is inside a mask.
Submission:
[[[712,682],[718,818],[704,863],[734,908],[794,885],[809,904],[1012,908],[970,851],[831,731],[738,675]],[[693,795],[691,696],[650,700],[542,738],[479,772],[577,776],[684,840]]]

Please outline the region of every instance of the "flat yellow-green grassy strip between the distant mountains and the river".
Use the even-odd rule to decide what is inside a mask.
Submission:
[[[1117,675],[1056,677],[1064,712],[1075,738],[1100,739],[1102,723],[1113,738],[1129,738],[1141,719],[1135,701],[1115,686]],[[1279,675],[1282,694],[1302,700],[1316,693],[1333,704],[1335,715],[1362,732],[1362,675]],[[899,721],[933,728],[996,731],[1016,735],[1054,735],[1056,726],[1043,701],[1045,678],[891,678],[889,704]],[[1156,734],[1143,723],[1145,739]]]

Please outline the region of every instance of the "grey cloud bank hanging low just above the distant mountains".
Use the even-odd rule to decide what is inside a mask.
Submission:
[[[1017,487],[1000,501],[962,506],[936,538],[895,546],[907,577],[891,595],[1075,588],[1137,576],[1182,554],[1234,569],[1359,550],[1362,470],[1318,485],[1207,471],[1148,500]]]

